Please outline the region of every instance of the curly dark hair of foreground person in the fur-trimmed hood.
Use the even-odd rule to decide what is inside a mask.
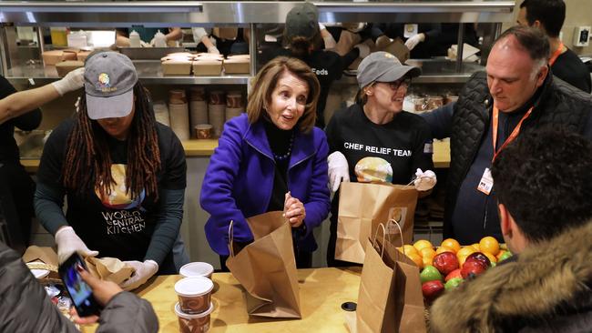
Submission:
[[[555,237],[592,217],[592,143],[546,127],[518,136],[492,167],[497,200],[525,237]]]

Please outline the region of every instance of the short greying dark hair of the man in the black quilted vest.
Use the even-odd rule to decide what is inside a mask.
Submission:
[[[547,61],[549,58],[549,40],[546,36],[538,29],[530,26],[515,25],[505,30],[500,35],[495,43],[509,36],[515,36],[518,44],[522,45],[530,58],[534,61]]]

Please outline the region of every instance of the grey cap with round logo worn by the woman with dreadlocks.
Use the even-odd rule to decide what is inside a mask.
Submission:
[[[128,56],[100,52],[85,64],[87,112],[91,119],[128,116],[134,103],[136,67]]]

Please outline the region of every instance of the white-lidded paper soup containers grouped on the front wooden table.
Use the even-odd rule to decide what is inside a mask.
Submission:
[[[182,333],[204,333],[209,331],[210,314],[214,310],[211,294],[214,283],[211,275],[214,267],[208,263],[189,263],[180,269],[184,278],[175,284],[179,302],[175,313],[179,318]]]

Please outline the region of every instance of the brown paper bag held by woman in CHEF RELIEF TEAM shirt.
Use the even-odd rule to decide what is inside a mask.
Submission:
[[[370,183],[342,183],[337,218],[335,259],[362,264],[364,248],[376,227],[390,219],[403,229],[403,241],[413,239],[413,215],[417,190],[411,186]],[[399,230],[390,224],[386,232],[399,244]]]

